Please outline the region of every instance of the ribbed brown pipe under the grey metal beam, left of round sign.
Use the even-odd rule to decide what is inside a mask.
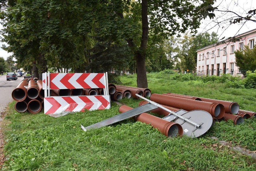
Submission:
[[[119,107],[119,112],[123,113],[133,109],[132,107],[122,105]],[[150,124],[154,128],[157,128],[166,137],[176,137],[177,135],[182,136],[183,130],[181,125],[175,122],[169,122],[148,113],[142,113],[135,117],[136,121]]]

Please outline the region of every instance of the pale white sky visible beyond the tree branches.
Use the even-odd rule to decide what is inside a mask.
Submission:
[[[217,2],[214,4],[214,6],[218,6],[219,10],[231,10],[235,11],[238,14],[243,14],[248,10],[256,9],[256,0],[217,0]],[[230,13],[215,13],[216,20],[215,22],[224,21],[225,19],[229,18],[231,16]],[[254,18],[255,19],[255,18]],[[233,37],[238,34],[242,34],[244,32],[248,32],[250,30],[256,29],[256,22],[245,22],[245,24],[232,24],[229,26],[228,23],[221,22],[219,26],[215,26],[216,23],[212,20],[206,18],[205,20],[201,21],[200,28],[198,28],[198,32],[217,32],[219,35],[219,38],[228,38]],[[0,29],[2,29],[2,26],[0,25]],[[2,44],[7,45],[6,43],[0,42],[0,57],[4,57],[5,59],[12,55],[12,53],[8,53],[5,50],[3,50]]]

